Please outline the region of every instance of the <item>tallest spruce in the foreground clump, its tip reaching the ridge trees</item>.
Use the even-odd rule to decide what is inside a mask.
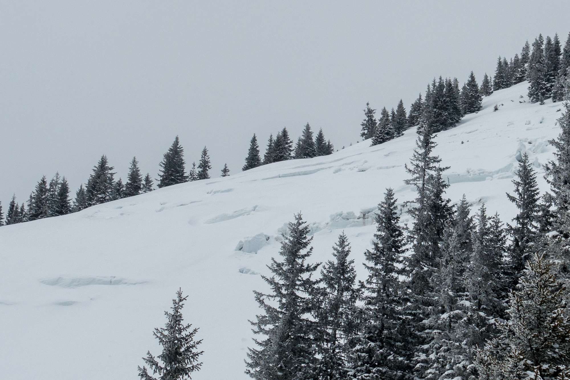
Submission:
[[[408,237],[413,252],[406,265],[410,273],[410,290],[419,298],[429,290],[431,273],[441,257],[443,231],[453,215],[450,200],[443,198],[449,184],[441,176],[449,168],[439,165],[439,156],[431,156],[437,144],[433,142],[434,135],[429,126],[421,126],[420,131],[411,164],[405,165],[412,177],[404,181],[406,185],[413,185],[417,192],[416,199],[410,203],[412,207],[407,211],[414,224]]]

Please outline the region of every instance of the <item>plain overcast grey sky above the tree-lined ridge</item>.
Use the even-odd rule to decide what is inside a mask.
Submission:
[[[568,1],[2,1],[0,200],[42,175],[72,195],[101,154],[157,177],[179,135],[186,162],[241,171],[287,127],[355,143],[366,102],[406,110],[434,76],[471,70],[539,34],[565,41]],[[263,153],[263,152],[262,152]]]

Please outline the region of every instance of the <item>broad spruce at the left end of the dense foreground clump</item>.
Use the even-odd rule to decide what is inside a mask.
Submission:
[[[300,214],[289,223],[289,235],[283,236],[279,254],[283,261],[271,259],[271,277],[262,276],[272,292],[255,293],[263,314],[251,321],[254,333],[265,335],[254,339],[259,348],[250,348],[246,373],[258,380],[296,380],[311,378],[318,360],[319,326],[312,317],[316,313],[320,280],[312,274],[319,264],[307,264],[312,238],[309,226]],[[307,249],[308,248],[308,249]]]

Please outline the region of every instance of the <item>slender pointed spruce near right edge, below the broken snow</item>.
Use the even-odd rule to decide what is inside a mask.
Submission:
[[[512,283],[516,285],[538,237],[539,188],[536,183],[536,172],[528,162],[527,153],[523,154],[515,175],[518,177],[518,180],[512,180],[515,185],[515,195],[507,193],[507,197],[519,209],[518,215],[512,219],[515,225],[510,227],[512,244],[509,249],[511,278]]]

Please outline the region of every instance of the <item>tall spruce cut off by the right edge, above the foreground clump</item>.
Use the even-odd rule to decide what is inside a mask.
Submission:
[[[556,149],[555,159],[544,165],[545,179],[550,184],[556,206],[555,228],[568,223],[568,211],[570,210],[570,109],[568,103],[565,110],[557,120],[560,126],[558,138],[549,143]]]

